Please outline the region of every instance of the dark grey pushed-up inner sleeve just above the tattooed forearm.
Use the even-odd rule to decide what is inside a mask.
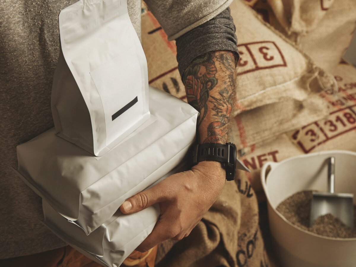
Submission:
[[[185,69],[194,58],[211,51],[232,51],[237,64],[239,51],[237,50],[235,24],[230,15],[230,8],[227,7],[213,19],[178,37],[176,45],[180,77],[183,77]]]

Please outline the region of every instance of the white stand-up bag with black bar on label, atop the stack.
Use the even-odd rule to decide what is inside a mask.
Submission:
[[[59,14],[52,87],[57,135],[103,156],[150,117],[147,62],[126,0],[80,0]]]

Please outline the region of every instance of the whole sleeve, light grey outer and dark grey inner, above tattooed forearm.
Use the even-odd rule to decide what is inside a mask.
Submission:
[[[239,59],[235,25],[230,15],[232,0],[145,0],[168,36],[176,40],[180,76],[202,54],[227,50]]]

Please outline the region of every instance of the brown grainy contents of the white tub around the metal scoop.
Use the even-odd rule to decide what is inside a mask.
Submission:
[[[354,229],[351,229],[334,215],[326,214],[316,219],[314,225],[309,227],[310,208],[312,206],[312,191],[297,192],[283,200],[277,210],[290,223],[318,235],[328,237],[352,238],[356,237],[356,206],[354,206]]]

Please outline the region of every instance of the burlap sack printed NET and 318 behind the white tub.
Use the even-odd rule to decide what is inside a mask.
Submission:
[[[340,63],[333,73],[338,88],[318,96],[328,104],[328,116],[239,151],[240,160],[251,169],[251,173],[238,171],[238,176],[251,181],[259,200],[264,198],[260,170],[266,161],[277,162],[324,150],[356,151],[356,68]]]

